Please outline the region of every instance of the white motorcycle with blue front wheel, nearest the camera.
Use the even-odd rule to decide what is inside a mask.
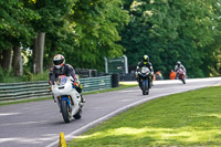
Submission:
[[[80,119],[82,117],[81,95],[71,76],[59,76],[55,84],[52,85],[52,95],[65,123],[70,123],[72,118]]]

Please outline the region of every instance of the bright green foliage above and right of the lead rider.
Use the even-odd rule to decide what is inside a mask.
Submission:
[[[122,6],[122,0],[75,1],[71,15],[75,44],[67,56],[74,66],[104,69],[104,56],[123,54],[116,42],[129,18]]]

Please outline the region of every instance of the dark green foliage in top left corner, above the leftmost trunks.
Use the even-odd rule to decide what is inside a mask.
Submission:
[[[0,1],[0,49],[12,45],[29,46],[35,36],[31,25],[39,14],[24,7],[20,0]]]

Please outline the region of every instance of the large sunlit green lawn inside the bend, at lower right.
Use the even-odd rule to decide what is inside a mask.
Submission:
[[[152,99],[90,129],[67,146],[221,146],[221,86]]]

